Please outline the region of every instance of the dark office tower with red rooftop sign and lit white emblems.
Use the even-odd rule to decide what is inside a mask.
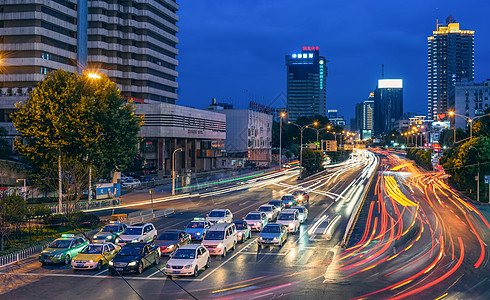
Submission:
[[[328,61],[318,47],[303,47],[286,55],[287,112],[290,121],[298,117],[325,116]]]

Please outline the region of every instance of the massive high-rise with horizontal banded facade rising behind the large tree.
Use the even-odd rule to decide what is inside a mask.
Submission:
[[[56,69],[97,71],[126,97],[175,103],[177,10],[175,0],[3,1],[0,109]]]

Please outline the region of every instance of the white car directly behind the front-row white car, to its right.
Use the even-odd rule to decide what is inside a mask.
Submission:
[[[219,223],[206,232],[202,244],[210,255],[226,256],[228,250],[235,250],[237,243],[236,227],[233,223]]]

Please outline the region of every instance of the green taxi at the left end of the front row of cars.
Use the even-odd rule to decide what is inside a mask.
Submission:
[[[41,264],[58,264],[68,265],[71,258],[75,257],[89,243],[83,237],[75,237],[73,234],[62,234],[61,238],[56,239],[48,245],[39,255]]]

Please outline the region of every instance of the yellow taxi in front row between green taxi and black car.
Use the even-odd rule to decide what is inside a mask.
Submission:
[[[109,264],[109,261],[111,261],[119,250],[121,250],[120,246],[110,242],[89,244],[72,258],[71,267],[74,270],[101,270],[104,265]]]

